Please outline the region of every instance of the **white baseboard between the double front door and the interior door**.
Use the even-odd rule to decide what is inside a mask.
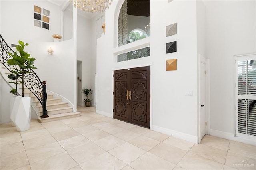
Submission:
[[[190,134],[177,132],[175,130],[170,130],[170,129],[163,128],[163,127],[158,127],[158,126],[155,126],[155,125],[151,126],[150,129],[154,130],[154,131],[157,131],[157,132],[160,132],[160,133],[163,133],[163,134],[168,134],[168,135],[173,136],[175,138],[179,138],[179,139],[182,139],[182,140],[186,140],[188,142],[198,144],[198,136],[192,136]]]

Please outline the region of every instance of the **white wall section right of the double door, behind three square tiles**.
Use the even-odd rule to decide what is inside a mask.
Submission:
[[[195,1],[151,1],[151,56],[153,125],[184,133],[197,142],[197,32]],[[161,20],[159,19],[161,18]],[[166,37],[166,26],[177,23],[177,34]],[[166,54],[166,43],[177,41],[177,52]],[[178,59],[176,71],[166,71],[166,60]],[[193,96],[185,96],[192,91]]]

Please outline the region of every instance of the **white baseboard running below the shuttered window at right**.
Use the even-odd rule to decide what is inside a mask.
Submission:
[[[246,144],[252,144],[252,145],[256,146],[256,140],[237,137],[237,136],[234,136],[234,134],[228,133],[228,132],[222,132],[219,130],[210,129],[210,135],[216,136],[219,138],[228,139],[228,140],[234,140],[234,141],[242,142],[242,143],[246,143]]]

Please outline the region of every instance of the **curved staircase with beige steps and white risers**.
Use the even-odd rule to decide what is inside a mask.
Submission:
[[[4,40],[2,39],[2,36],[1,36],[0,42],[1,42],[1,46],[3,46],[3,44],[5,43]],[[6,45],[6,46],[8,46],[8,45]],[[8,47],[8,48],[10,49],[10,47]],[[11,52],[11,50],[12,49],[10,49],[8,51]],[[1,51],[1,55],[2,56],[0,56],[0,58],[3,58],[4,50]],[[6,62],[6,59],[5,59],[5,62]],[[5,79],[5,81],[8,83],[10,81],[10,79],[8,79],[7,76],[10,74],[10,71],[4,66],[4,64],[2,64],[2,63],[0,63],[0,64],[1,64],[0,73],[1,73],[2,77]],[[38,83],[42,84],[42,82],[40,81],[39,78],[38,78],[38,80],[39,80]],[[11,83],[8,83],[8,84],[10,87],[15,88],[14,84],[11,84]],[[30,88],[32,88],[32,89],[34,89],[34,87],[36,87],[36,85],[34,85],[32,87],[30,86]],[[36,88],[38,88],[38,87],[36,87]],[[22,84],[19,84],[18,93],[19,93],[19,91],[22,91],[21,89],[22,89]],[[34,94],[36,94],[37,97]],[[34,110],[37,114],[37,117],[38,117],[38,121],[40,123],[80,116],[80,112],[73,112],[73,107],[70,107],[72,105],[72,103],[66,102],[65,101],[66,99],[60,97],[56,93],[55,94],[48,93],[47,101],[46,101],[47,111],[45,113],[47,113],[47,115],[49,117],[41,118],[40,116],[43,115],[43,108],[42,108],[42,104],[41,104],[42,101],[40,102],[38,100],[38,94],[39,94],[39,96],[42,97],[42,94],[44,94],[44,93],[32,93],[32,91],[30,89],[28,89],[26,86],[24,86],[24,95],[31,97],[31,101],[32,101],[31,106],[34,108]]]

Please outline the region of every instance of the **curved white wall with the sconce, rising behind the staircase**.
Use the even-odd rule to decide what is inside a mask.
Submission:
[[[28,42],[26,51],[36,58],[35,70],[41,81],[46,81],[47,90],[53,91],[74,104],[74,40],[61,42]],[[48,47],[52,47],[54,53],[48,54]]]

